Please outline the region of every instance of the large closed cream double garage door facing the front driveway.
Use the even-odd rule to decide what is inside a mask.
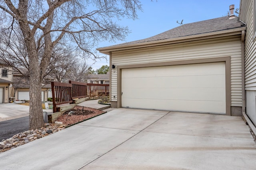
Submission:
[[[226,114],[225,63],[122,69],[122,107]]]

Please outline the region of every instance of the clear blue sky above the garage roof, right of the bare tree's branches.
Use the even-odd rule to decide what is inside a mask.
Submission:
[[[235,10],[239,8],[240,0],[141,0],[141,4],[143,12],[138,12],[137,20],[118,21],[120,25],[128,26],[131,31],[126,41],[105,41],[95,49],[152,37],[180,26],[177,20],[183,20],[183,24],[186,24],[225,16],[230,5],[234,4]],[[87,63],[91,65],[93,62],[89,60]],[[106,64],[109,65],[109,61],[97,60],[92,68],[97,69]]]

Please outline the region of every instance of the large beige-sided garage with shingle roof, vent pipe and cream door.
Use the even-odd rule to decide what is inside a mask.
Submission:
[[[246,26],[230,7],[230,16],[99,48],[110,55],[111,106],[242,115]]]

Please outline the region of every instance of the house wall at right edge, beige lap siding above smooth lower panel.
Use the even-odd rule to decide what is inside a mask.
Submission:
[[[246,114],[256,125],[256,0],[240,0],[239,20],[246,24],[244,40]]]

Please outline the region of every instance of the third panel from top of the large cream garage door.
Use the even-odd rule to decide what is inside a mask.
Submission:
[[[224,88],[125,88],[122,90],[122,98],[140,98],[156,100],[207,100],[225,102]],[[222,95],[219,95],[222,94]]]

